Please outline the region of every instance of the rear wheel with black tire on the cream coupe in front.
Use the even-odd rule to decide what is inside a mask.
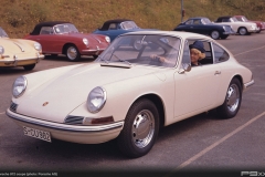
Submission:
[[[224,103],[218,107],[218,115],[221,118],[234,117],[241,106],[242,85],[237,79],[233,79],[229,85]]]

